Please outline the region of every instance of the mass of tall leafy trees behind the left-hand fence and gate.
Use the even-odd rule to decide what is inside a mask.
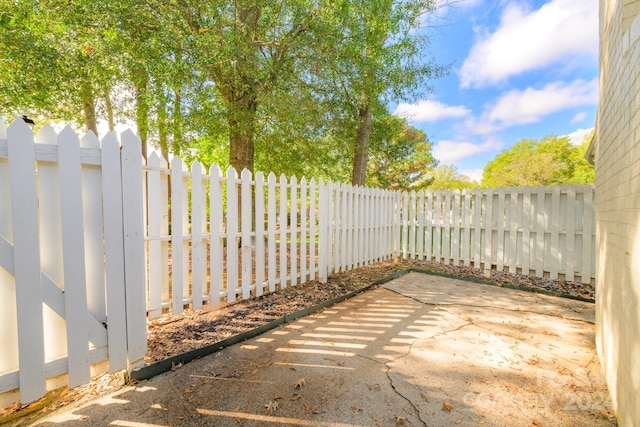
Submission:
[[[237,170],[373,182],[407,131],[377,128],[388,103],[447,71],[419,29],[433,0],[0,3],[0,114],[133,120],[165,156]]]

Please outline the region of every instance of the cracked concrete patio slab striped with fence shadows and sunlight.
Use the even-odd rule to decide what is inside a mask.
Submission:
[[[613,425],[593,319],[410,273],[37,425]]]

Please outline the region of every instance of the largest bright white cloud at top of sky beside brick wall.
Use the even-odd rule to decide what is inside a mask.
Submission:
[[[598,2],[552,0],[530,11],[511,2],[495,32],[480,37],[460,70],[460,85],[483,87],[598,50]]]

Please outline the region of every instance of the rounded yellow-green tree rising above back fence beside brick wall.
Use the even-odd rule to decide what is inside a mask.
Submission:
[[[570,185],[593,183],[594,169],[584,154],[591,140],[571,145],[568,137],[521,140],[487,164],[484,187]]]

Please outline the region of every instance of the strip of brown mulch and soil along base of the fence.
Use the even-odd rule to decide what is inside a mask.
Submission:
[[[148,347],[145,364],[215,344],[230,336],[264,325],[283,315],[362,289],[396,271],[412,268],[466,278],[491,280],[499,285],[542,289],[554,294],[572,297],[595,298],[593,285],[577,282],[528,277],[496,270],[491,270],[490,278],[488,278],[483,270],[473,267],[452,266],[420,260],[386,261],[335,273],[328,278],[326,284],[314,280],[227,306],[217,308],[205,306],[197,312],[185,310],[179,315],[163,315],[148,324]],[[76,387],[73,390],[65,388],[54,390],[29,405],[15,404],[0,409],[0,425],[27,425],[71,402],[82,402],[108,394],[122,387],[123,384],[124,381],[117,374],[106,374],[94,379],[90,384]]]

